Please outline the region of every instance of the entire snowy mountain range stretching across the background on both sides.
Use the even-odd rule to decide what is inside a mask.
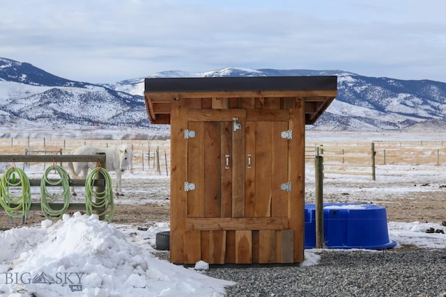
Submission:
[[[341,70],[228,67],[210,72],[158,72],[148,77],[337,75],[338,96],[307,129],[379,131],[446,127],[446,83],[364,77]],[[121,129],[168,131],[151,125],[144,77],[93,84],[56,77],[29,63],[0,58],[0,124],[11,129]]]

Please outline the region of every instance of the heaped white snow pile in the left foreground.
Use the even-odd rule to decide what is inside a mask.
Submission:
[[[157,259],[76,213],[0,233],[0,295],[219,296],[233,284]]]

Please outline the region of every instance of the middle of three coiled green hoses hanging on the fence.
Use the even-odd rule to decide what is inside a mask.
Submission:
[[[55,181],[49,180],[48,175],[52,170],[55,170],[59,174],[60,179]],[[49,193],[47,191],[47,184],[51,186],[62,186],[62,193]],[[45,170],[45,174],[43,175],[42,179],[40,179],[40,196],[42,199],[40,202],[40,207],[42,208],[45,218],[50,220],[61,218],[61,216],[65,214],[70,206],[70,182],[66,170],[57,165],[49,166],[47,170]],[[48,199],[56,200],[61,198],[63,198],[63,207],[61,209],[52,209],[49,206]]]

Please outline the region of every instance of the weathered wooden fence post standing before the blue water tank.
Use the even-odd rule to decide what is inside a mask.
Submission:
[[[323,156],[316,156],[314,158],[314,177],[314,198],[316,208],[316,248],[323,248]]]

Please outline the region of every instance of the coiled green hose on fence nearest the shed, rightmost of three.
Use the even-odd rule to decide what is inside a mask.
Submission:
[[[105,178],[105,190],[97,192],[94,189],[94,180],[96,175],[100,173]],[[94,201],[93,201],[94,198]],[[85,206],[86,214],[93,214],[93,208],[103,207],[105,210],[98,216],[105,216],[108,212],[107,222],[111,222],[114,214],[114,201],[113,201],[113,191],[112,191],[112,178],[109,172],[101,167],[96,167],[91,170],[89,175],[87,175],[85,180]]]

